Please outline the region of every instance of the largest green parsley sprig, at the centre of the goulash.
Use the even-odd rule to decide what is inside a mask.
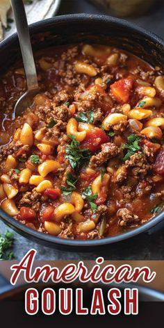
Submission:
[[[89,149],[81,149],[80,142],[76,141],[76,137],[69,135],[69,138],[72,140],[70,145],[67,145],[66,147],[66,156],[69,160],[70,165],[72,166],[73,169],[76,167],[81,167],[83,163],[88,161],[90,159],[90,151]]]

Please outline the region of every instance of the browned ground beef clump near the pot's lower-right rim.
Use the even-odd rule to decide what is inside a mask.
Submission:
[[[133,214],[127,208],[121,208],[117,211],[117,218],[121,227],[136,227],[140,221],[138,215]]]

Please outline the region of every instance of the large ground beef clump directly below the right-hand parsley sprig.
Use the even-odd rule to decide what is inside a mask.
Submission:
[[[134,177],[145,177],[151,168],[151,165],[149,165],[147,158],[141,153],[141,151],[138,151],[138,153],[133,154],[129,160],[125,162],[125,167],[132,168],[132,174]]]

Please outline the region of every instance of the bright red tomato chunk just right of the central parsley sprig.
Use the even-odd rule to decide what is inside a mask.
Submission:
[[[81,148],[87,148],[90,151],[97,151],[104,142],[108,142],[109,138],[106,133],[97,127],[93,131],[88,131],[85,140],[81,142]]]

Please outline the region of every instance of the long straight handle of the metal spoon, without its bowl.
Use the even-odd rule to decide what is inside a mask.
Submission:
[[[26,19],[26,12],[22,0],[11,0],[13,14],[15,17],[15,24],[17,27],[17,34],[19,44],[22,52],[24,62],[24,70],[26,74],[27,88],[33,90],[38,88],[38,79],[33,59],[33,51],[31,47],[31,39],[28,30],[28,23]]]

